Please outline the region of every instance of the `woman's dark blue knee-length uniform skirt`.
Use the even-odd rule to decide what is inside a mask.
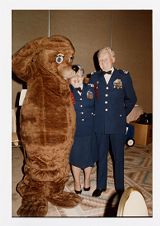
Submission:
[[[97,148],[95,135],[74,138],[71,149],[70,164],[81,169],[93,167],[97,161]]]

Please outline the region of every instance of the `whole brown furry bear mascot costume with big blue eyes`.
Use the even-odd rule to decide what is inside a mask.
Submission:
[[[27,158],[19,216],[45,216],[48,201],[73,207],[81,198],[64,187],[75,132],[75,112],[67,79],[74,76],[74,47],[60,35],[27,43],[13,55],[13,72],[27,82],[21,108],[21,141]]]

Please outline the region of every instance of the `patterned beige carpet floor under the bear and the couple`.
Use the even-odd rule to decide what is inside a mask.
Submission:
[[[21,197],[16,192],[16,185],[22,178],[23,154],[17,147],[13,148],[12,164],[12,216],[16,217],[16,211],[21,203]],[[81,173],[83,187],[83,174]],[[125,149],[125,188],[138,188],[143,194],[149,217],[152,216],[152,145],[134,146]],[[91,190],[83,191],[82,203],[74,208],[60,208],[49,203],[47,217],[114,217],[117,211],[118,198],[115,195],[112,174],[112,161],[109,156],[107,190],[98,198],[92,197],[96,188],[96,166],[91,174]],[[65,190],[74,191],[73,178],[70,173]]]

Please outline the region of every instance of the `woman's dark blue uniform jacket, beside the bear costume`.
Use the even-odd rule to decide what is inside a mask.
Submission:
[[[76,111],[76,132],[75,136],[90,136],[94,132],[94,88],[90,85],[83,85],[82,94],[70,85],[74,96],[74,108]],[[90,99],[90,98],[91,99]]]

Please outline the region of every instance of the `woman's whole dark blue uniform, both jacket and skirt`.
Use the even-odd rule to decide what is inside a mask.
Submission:
[[[70,86],[74,95],[74,108],[76,111],[76,132],[70,153],[70,163],[79,168],[93,166],[96,159],[96,139],[94,133],[94,89],[83,85],[82,94]],[[90,94],[93,98],[89,99]]]

